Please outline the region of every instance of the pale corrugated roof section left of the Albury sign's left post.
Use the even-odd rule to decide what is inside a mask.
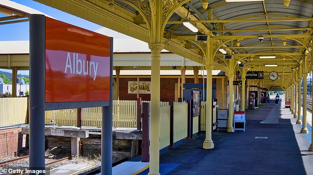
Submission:
[[[29,54],[29,41],[0,41],[0,54]]]

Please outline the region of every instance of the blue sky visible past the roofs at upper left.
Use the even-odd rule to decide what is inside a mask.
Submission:
[[[39,10],[60,21],[73,24],[75,26],[78,26],[84,29],[88,29],[90,31],[94,31],[96,29],[101,28],[101,26],[97,24],[91,23],[84,19],[78,18],[74,15],[65,13],[63,11],[46,6],[44,4],[41,4],[33,0],[12,0],[12,1],[34,8],[36,10]],[[0,17],[3,17],[3,16],[6,16],[6,15],[3,15],[0,13]],[[7,40],[29,40],[29,22],[0,25],[0,41],[7,41]],[[0,70],[11,72],[11,70],[3,70],[3,69],[0,69]],[[28,70],[18,71],[18,73],[29,74]]]

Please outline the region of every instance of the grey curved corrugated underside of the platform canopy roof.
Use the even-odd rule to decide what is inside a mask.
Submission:
[[[266,19],[265,17],[265,9],[266,8],[266,14],[270,15],[268,16],[269,19],[274,18],[290,18],[290,17],[298,17],[298,18],[311,18],[313,17],[313,6],[310,4],[312,0],[291,0],[288,7],[286,7],[283,3],[283,0],[265,0],[264,6],[263,1],[248,1],[248,2],[226,2],[225,0],[208,0],[209,1],[209,7],[214,6],[213,8],[213,18],[216,19],[216,17],[219,20],[233,20],[237,18],[242,19]],[[190,11],[195,12],[195,16],[199,20],[205,20],[208,19],[208,12],[207,10],[204,10],[202,7],[202,3],[200,0],[193,0],[192,3],[187,3],[190,7]],[[197,14],[195,10],[192,10],[192,8],[196,9],[196,11],[201,12],[201,16]],[[255,16],[255,15],[262,15],[262,16]],[[280,16],[271,16],[271,15],[280,15]],[[284,15],[284,16],[281,16]],[[202,19],[201,19],[202,18]],[[169,21],[179,21],[182,18],[177,15],[173,14]],[[276,27],[288,27],[288,28],[306,28],[308,27],[309,22],[308,21],[288,21],[288,22],[269,22],[270,26],[276,26]],[[166,25],[165,29],[170,30],[172,27],[174,27],[173,34],[195,34],[192,33],[190,30],[188,30],[185,26],[180,25],[179,27],[175,27],[176,24],[172,25]],[[206,24],[204,24],[206,25]],[[215,24],[215,25],[218,25]],[[268,24],[266,22],[253,22],[253,23],[225,23],[224,28],[225,29],[251,29],[259,27],[259,29],[267,29]],[[297,31],[272,31],[271,35],[292,35],[292,34],[303,34],[304,30],[297,30]],[[218,33],[221,35],[220,33]],[[224,35],[269,35],[268,31],[251,31],[251,32],[225,32]],[[272,38],[273,41],[279,41],[281,42],[281,39],[278,38]],[[268,43],[264,44],[264,42],[268,41]],[[271,38],[265,38],[264,42],[259,42],[257,38],[255,39],[245,39],[240,42],[241,46],[246,46],[251,43],[256,43],[255,46],[272,46]],[[294,40],[287,39],[287,42],[291,45],[300,45],[298,42]],[[290,45],[287,44],[287,45]],[[228,45],[231,45],[231,43],[228,43]],[[274,46],[281,46],[280,43],[273,43]],[[245,49],[246,52],[255,53],[260,51],[288,51],[288,52],[298,52],[298,48],[288,48],[288,49],[262,49],[253,51],[255,49]],[[239,51],[241,52],[241,51]]]

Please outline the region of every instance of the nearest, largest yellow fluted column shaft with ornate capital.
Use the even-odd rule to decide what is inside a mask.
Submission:
[[[150,173],[159,175],[160,130],[160,58],[163,45],[150,43],[151,50],[151,103],[150,103]]]

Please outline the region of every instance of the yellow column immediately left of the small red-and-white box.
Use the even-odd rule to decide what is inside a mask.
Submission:
[[[234,62],[234,60],[230,60],[230,62]],[[233,64],[230,64],[231,66],[233,66]],[[234,127],[233,127],[233,117],[234,117],[234,96],[233,96],[233,81],[234,81],[234,71],[229,71],[228,74],[229,77],[229,111],[228,111],[228,126],[227,126],[227,132],[229,133],[233,133],[235,132]]]

